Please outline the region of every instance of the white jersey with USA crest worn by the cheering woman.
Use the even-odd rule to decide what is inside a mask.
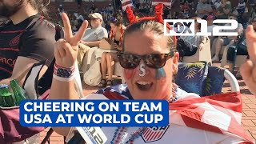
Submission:
[[[178,101],[199,98],[197,94],[186,93],[186,91],[178,89],[177,92]],[[86,97],[86,99],[107,99],[102,94],[90,94]],[[216,110],[218,112],[218,110]],[[239,143],[243,142],[242,138],[238,138],[236,136],[230,136],[228,134],[218,134],[206,130],[198,130],[193,129],[188,126],[184,126],[178,121],[180,115],[175,114],[175,112],[170,112],[170,120],[168,126],[162,127],[147,127],[141,136],[138,138],[134,138],[134,144],[142,144],[150,142],[150,144],[230,144],[230,143]],[[139,127],[142,128],[142,127]],[[103,133],[106,135],[107,141],[106,143],[111,143],[112,139],[116,140],[115,132],[118,130],[118,127],[102,127]],[[138,127],[127,127],[126,133],[120,133],[118,131],[117,134],[121,134],[123,138],[121,138],[122,143],[125,143],[130,138],[130,134],[138,131]]]

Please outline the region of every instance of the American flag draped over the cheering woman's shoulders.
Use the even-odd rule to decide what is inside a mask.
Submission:
[[[98,90],[108,99],[131,98],[126,85]],[[170,124],[225,134],[241,139],[240,144],[254,143],[241,126],[242,99],[238,92],[218,94],[170,103]]]

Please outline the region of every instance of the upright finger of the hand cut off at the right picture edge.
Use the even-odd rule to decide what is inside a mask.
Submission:
[[[246,44],[250,60],[256,64],[256,34],[254,33],[254,27],[248,26],[246,29]]]

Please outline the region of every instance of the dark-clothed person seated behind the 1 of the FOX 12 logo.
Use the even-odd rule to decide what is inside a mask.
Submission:
[[[194,17],[192,19],[199,20],[201,18]],[[200,32],[200,30],[201,30],[201,24],[195,21],[194,22],[195,33]],[[207,36],[198,36],[198,35],[182,36],[178,38],[177,50],[181,58],[180,61],[182,61],[182,58],[184,56],[194,55],[198,51],[198,49],[201,51],[207,41],[209,41],[209,38]]]

